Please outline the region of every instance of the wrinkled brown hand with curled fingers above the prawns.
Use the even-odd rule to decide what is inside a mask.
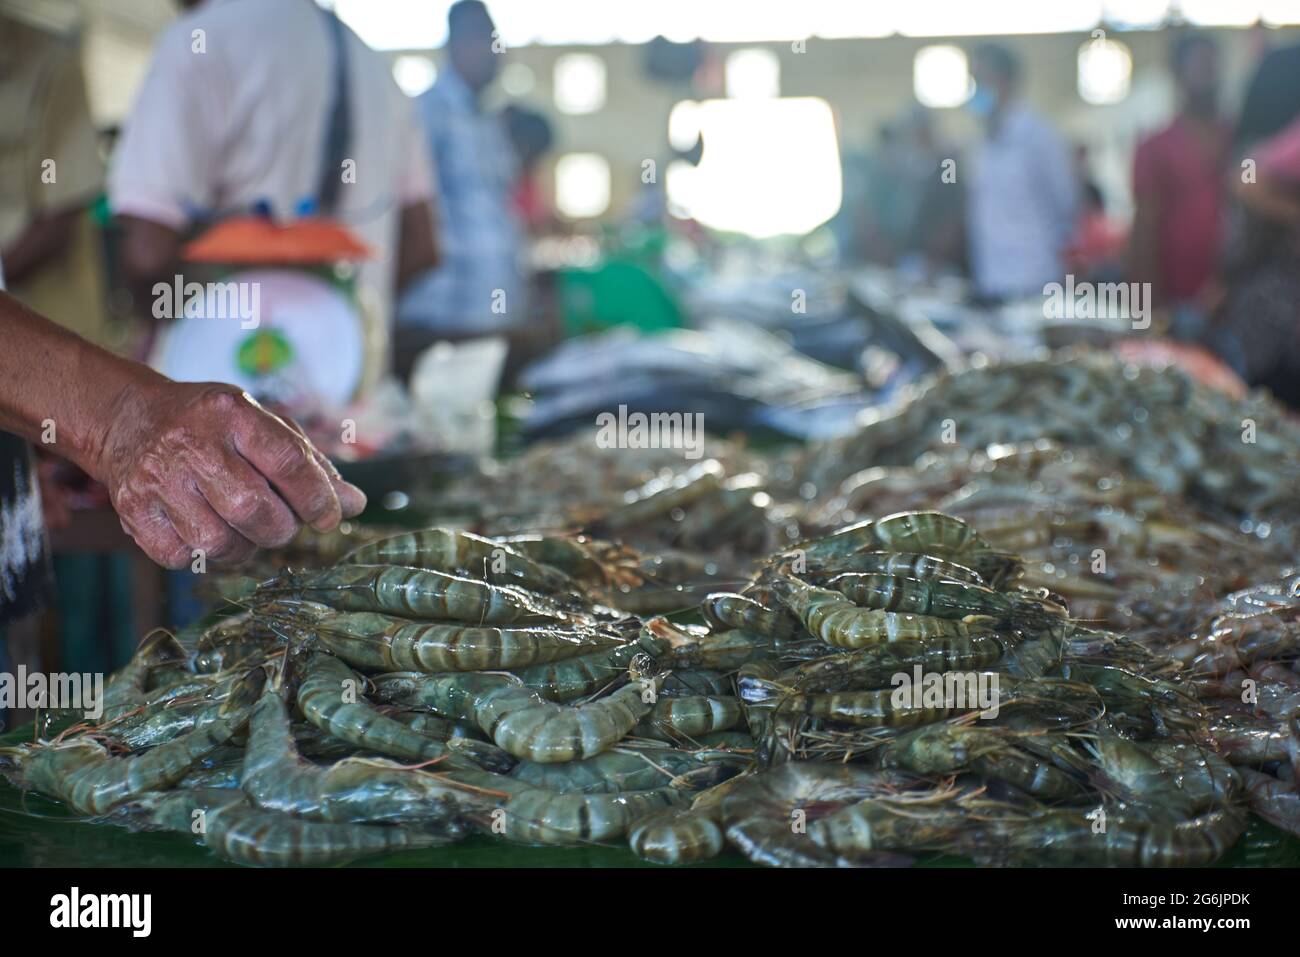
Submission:
[[[122,528],[150,558],[183,568],[202,549],[234,563],[365,507],[306,436],[247,393],[151,382],[120,398],[96,456]]]

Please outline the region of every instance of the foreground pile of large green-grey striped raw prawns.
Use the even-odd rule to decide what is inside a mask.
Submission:
[[[251,865],[484,833],[660,863],[1167,866],[1221,857],[1252,807],[1297,830],[1295,581],[1160,648],[933,511],[780,549],[705,624],[620,610],[637,568],[571,536],[368,542],[151,635],[101,716],[0,768]],[[1225,707],[1265,661],[1268,705]]]

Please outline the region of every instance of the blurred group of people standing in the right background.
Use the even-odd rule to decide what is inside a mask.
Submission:
[[[1300,406],[1300,47],[1268,52],[1239,108],[1205,34],[1173,40],[1178,111],[1134,153],[1131,225],[1071,148],[1027,105],[1010,49],[971,53],[966,104],[980,137],[958,150],[914,107],[845,159],[836,222],[849,261],[909,277],[967,277],[980,302],[1078,282],[1149,283],[1162,328],[1208,346],[1251,385]]]

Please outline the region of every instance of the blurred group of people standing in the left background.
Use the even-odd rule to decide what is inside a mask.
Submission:
[[[359,285],[370,315],[395,316],[407,337],[398,359],[426,339],[525,325],[524,239],[549,221],[537,161],[552,134],[521,104],[484,105],[502,57],[482,3],[451,8],[443,66],[413,100],[315,3],[179,5],[121,135],[92,125],[77,36],[0,9],[0,96],[18,121],[0,140],[14,295],[142,354],[150,335],[127,330],[139,338],[133,321],[150,319],[151,290],[181,272],[188,239],[242,216],[324,217],[376,254]],[[47,159],[57,179],[42,176]]]

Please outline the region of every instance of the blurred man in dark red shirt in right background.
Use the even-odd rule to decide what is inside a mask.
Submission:
[[[1178,86],[1174,121],[1134,155],[1134,228],[1128,277],[1152,283],[1156,306],[1173,311],[1173,334],[1193,337],[1219,264],[1230,129],[1219,116],[1218,44],[1178,38],[1170,70]]]

